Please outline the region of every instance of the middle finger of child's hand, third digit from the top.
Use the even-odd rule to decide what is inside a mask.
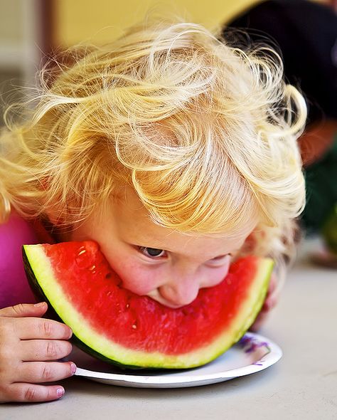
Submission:
[[[73,346],[64,340],[23,340],[20,344],[23,362],[46,362],[70,355]]]

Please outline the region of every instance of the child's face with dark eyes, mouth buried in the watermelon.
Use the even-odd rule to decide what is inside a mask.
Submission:
[[[68,240],[97,241],[125,288],[178,308],[191,303],[200,288],[223,280],[254,226],[242,226],[235,238],[187,236],[154,224],[129,190],[103,218],[90,217]]]

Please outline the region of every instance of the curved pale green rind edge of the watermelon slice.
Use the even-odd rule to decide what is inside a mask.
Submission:
[[[132,350],[97,334],[68,303],[42,245],[23,246],[23,261],[31,287],[51,305],[58,318],[72,328],[75,345],[105,362],[132,369],[187,369],[201,366],[222,355],[240,340],[255,321],[267,294],[273,268],[271,259],[257,259],[257,271],[251,282],[251,290],[247,293],[249,298],[242,303],[229,330],[218,335],[210,345],[181,355],[166,355]]]

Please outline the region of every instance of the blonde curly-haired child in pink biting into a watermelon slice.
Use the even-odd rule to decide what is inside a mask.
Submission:
[[[282,267],[304,207],[304,100],[270,49],[147,22],[73,57],[1,137],[0,401],[58,399],[41,383],[76,369],[56,362],[70,328],[28,304],[22,243],[93,239],[125,288],[177,308],[239,255]]]

